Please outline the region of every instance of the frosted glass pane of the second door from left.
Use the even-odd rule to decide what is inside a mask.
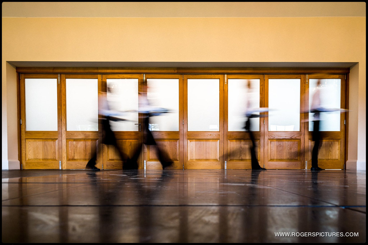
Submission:
[[[66,79],[67,131],[98,131],[97,79]]]

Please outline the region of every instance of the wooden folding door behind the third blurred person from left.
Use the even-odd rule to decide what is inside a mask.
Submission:
[[[245,131],[245,111],[248,100],[251,107],[264,107],[263,75],[226,75],[224,85],[224,152],[226,169],[251,169],[252,141]],[[250,87],[248,87],[248,81]],[[251,98],[251,96],[253,98]],[[259,114],[259,113],[258,113]],[[264,113],[260,113],[263,115]],[[251,118],[255,138],[256,157],[263,167],[263,117]]]

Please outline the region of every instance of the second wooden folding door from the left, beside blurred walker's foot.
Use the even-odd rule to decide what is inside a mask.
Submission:
[[[102,168],[99,91],[101,75],[61,74],[63,169],[84,169],[95,152]]]

